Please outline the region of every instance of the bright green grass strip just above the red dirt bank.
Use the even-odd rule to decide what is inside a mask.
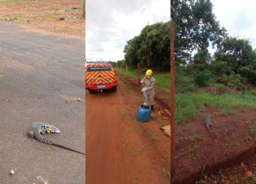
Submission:
[[[232,96],[227,93],[220,96],[214,96],[210,93],[186,93],[175,95],[175,117],[178,122],[188,122],[196,119],[203,111],[203,105],[208,107],[227,107],[228,114],[233,114],[233,108],[256,109],[256,96],[238,95]],[[225,110],[224,110],[225,111]]]

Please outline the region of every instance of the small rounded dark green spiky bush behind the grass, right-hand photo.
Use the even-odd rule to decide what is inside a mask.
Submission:
[[[196,86],[203,87],[203,86],[209,86],[210,79],[212,78],[213,78],[213,74],[208,70],[204,70],[195,74],[193,80]]]

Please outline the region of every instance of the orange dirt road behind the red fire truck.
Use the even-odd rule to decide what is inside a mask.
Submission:
[[[118,83],[116,93],[85,92],[86,183],[168,182],[162,170],[170,168],[169,137],[155,120],[136,119],[143,98]]]

